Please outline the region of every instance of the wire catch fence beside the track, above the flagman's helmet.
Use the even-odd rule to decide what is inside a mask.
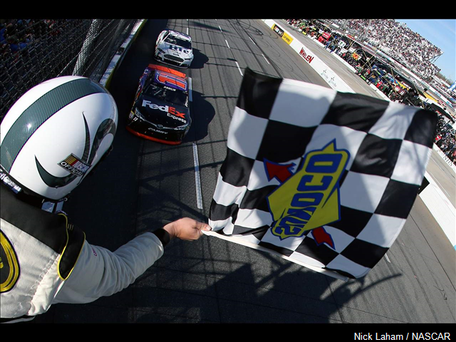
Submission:
[[[0,19],[0,122],[28,89],[58,76],[99,82],[138,19]]]

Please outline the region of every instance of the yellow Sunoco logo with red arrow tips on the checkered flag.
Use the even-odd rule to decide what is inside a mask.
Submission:
[[[289,172],[289,165],[274,165],[265,160],[268,177],[274,175],[284,182],[267,197],[274,219],[272,234],[286,239],[316,229],[313,232],[316,243],[334,247],[323,225],[340,219],[338,181],[349,155],[346,150],[337,150],[334,140],[321,150],[307,153],[301,170],[294,175]],[[276,173],[277,169],[280,173]]]

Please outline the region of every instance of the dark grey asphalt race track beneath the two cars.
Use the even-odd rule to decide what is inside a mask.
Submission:
[[[164,28],[188,29],[194,41],[195,60],[185,71],[192,78],[192,128],[179,146],[142,140],[125,130],[138,79],[153,61],[155,40]],[[64,208],[88,242],[115,250],[180,217],[207,220],[247,66],[327,86],[261,20],[147,21],[111,81],[120,113],[114,150]],[[455,323],[455,279],[455,249],[418,197],[387,257],[363,279],[340,281],[203,236],[197,242],[171,242],[162,259],[128,289],[91,304],[57,304],[33,322]]]

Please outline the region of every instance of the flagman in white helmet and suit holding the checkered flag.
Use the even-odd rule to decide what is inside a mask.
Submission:
[[[110,93],[78,76],[28,90],[4,117],[1,322],[28,321],[52,304],[83,304],[115,294],[162,257],[170,240],[196,240],[210,230],[185,217],[110,252],[89,244],[70,223],[61,205],[108,153],[117,123]]]

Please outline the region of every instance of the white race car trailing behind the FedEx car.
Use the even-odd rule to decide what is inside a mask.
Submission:
[[[162,31],[155,44],[155,59],[188,68],[193,61],[192,37],[173,30]]]

